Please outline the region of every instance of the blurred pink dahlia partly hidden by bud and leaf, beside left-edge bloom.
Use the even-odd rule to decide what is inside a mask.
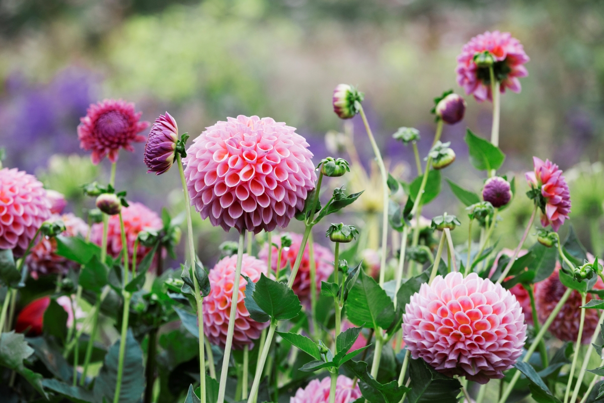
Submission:
[[[54,222],[57,220],[63,221],[65,231],[63,236],[82,236],[86,237],[88,233],[88,224],[81,218],[74,216],[72,213],[53,214],[48,221]],[[63,256],[56,254],[57,240],[54,238],[42,237],[40,241],[31,248],[30,254],[27,255],[26,262],[30,270],[31,277],[37,280],[40,274],[67,274],[70,268],[78,269],[79,264],[66,259]]]

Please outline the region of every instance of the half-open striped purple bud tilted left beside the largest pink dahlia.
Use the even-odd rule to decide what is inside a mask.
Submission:
[[[149,170],[160,175],[172,167],[176,155],[176,141],[178,141],[178,125],[168,112],[153,123],[151,132],[145,144],[144,161]]]

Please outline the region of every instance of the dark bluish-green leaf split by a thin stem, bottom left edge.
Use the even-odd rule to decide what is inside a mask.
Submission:
[[[103,367],[96,380],[92,392],[97,401],[106,399],[113,402],[115,384],[117,382],[117,366],[120,353],[120,340],[115,341],[105,356]],[[143,367],[143,351],[138,345],[132,329],[128,329],[126,336],[126,351],[124,353],[124,370],[121,378],[119,403],[137,403],[145,389],[145,376]]]

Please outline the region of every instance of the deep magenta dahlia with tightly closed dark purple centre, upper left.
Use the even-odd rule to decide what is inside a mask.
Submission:
[[[92,150],[91,159],[95,165],[105,156],[115,163],[120,149],[133,152],[132,143],[145,141],[139,133],[149,127],[149,122],[140,121],[141,115],[143,112],[135,112],[132,102],[121,99],[91,104],[77,126],[80,148]]]

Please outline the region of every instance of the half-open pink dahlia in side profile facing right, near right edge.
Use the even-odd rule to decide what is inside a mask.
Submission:
[[[550,160],[543,162],[533,156],[534,172],[525,174],[528,183],[536,188],[541,187],[541,195],[545,199],[545,208],[542,209],[541,224],[544,227],[551,224],[557,231],[570,213],[570,190],[562,170]]]

